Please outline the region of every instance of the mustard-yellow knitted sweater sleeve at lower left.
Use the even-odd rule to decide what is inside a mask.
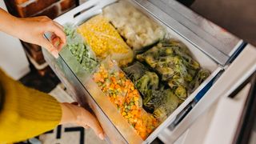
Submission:
[[[0,143],[26,140],[58,126],[61,106],[49,94],[22,86],[1,70],[0,86]]]

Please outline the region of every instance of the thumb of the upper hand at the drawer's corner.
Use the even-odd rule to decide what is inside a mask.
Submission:
[[[46,38],[42,37],[39,45],[45,48],[50,54],[52,54],[54,58],[58,58],[58,49],[54,47],[54,45]]]

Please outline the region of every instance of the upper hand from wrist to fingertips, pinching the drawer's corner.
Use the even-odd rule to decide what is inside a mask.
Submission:
[[[66,43],[66,34],[63,32],[63,27],[45,16],[18,18],[17,29],[16,36],[18,38],[22,39],[24,42],[34,43],[46,48],[55,58],[58,58],[58,52]],[[49,42],[44,37],[46,32],[53,34],[52,38],[54,38],[55,43],[58,41],[57,46],[54,46],[54,43]]]

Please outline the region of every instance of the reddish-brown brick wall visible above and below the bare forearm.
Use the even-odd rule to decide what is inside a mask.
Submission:
[[[26,18],[46,15],[49,18],[56,18],[60,14],[73,9],[77,0],[4,0],[10,14],[16,17]],[[33,58],[38,65],[45,62],[40,46],[22,42],[27,54]],[[40,70],[38,70],[40,71]],[[42,70],[41,70],[42,71]]]

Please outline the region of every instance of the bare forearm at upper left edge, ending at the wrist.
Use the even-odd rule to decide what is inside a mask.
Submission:
[[[0,31],[15,36],[15,27],[18,25],[18,18],[0,8]]]

